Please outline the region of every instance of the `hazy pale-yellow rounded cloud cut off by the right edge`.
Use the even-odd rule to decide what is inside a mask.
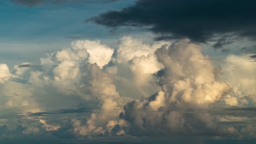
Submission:
[[[230,55],[225,59],[221,79],[229,83],[239,97],[256,102],[256,64],[248,56]]]

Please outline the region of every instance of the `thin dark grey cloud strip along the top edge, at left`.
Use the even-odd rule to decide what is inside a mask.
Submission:
[[[62,3],[91,3],[91,4],[106,4],[118,0],[10,0],[15,4],[36,6],[41,4],[62,4]]]

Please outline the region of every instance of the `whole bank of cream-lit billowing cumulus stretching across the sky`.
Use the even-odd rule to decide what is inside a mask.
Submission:
[[[219,125],[218,122],[240,122],[246,119],[219,117],[210,111],[210,107],[219,100],[224,100],[225,106],[249,103],[243,97],[236,97],[232,88],[242,95],[252,97],[255,94],[252,88],[255,83],[248,78],[254,80],[251,72],[255,71],[254,66],[244,67],[238,64],[237,59],[241,58],[239,56],[231,56],[226,60],[228,66],[223,68],[223,76],[228,84],[216,80],[216,68],[212,65],[211,58],[203,56],[201,46],[190,43],[189,40],[179,40],[172,45],[165,41],[149,45],[141,40],[124,37],[119,41],[116,55],[113,53],[113,49],[100,44],[100,41],[74,41],[71,48],[40,58],[40,68],[22,68],[16,65],[16,81],[9,80],[12,74],[6,64],[1,64],[0,69],[4,72],[0,71],[0,75],[9,77],[2,80],[0,76],[0,80],[5,81],[0,94],[6,96],[5,101],[0,101],[0,104],[12,107],[10,112],[26,116],[31,112],[55,111],[55,106],[44,107],[44,102],[39,101],[46,97],[50,98],[48,100],[51,104],[56,105],[61,105],[59,101],[65,98],[79,98],[79,102],[85,104],[88,100],[94,101],[96,105],[86,115],[88,117],[71,117],[70,125],[66,125],[69,133],[79,137],[235,135],[238,131],[234,127]],[[107,65],[110,61],[112,63]],[[230,74],[225,72],[232,70]],[[243,73],[247,76],[242,76],[245,79],[241,79],[245,81],[242,84],[251,89],[237,84],[239,79],[236,75]],[[229,80],[231,76],[236,77]],[[31,99],[34,96],[38,98]],[[43,107],[38,107],[39,103]],[[27,123],[22,123],[26,123],[23,126],[27,130],[22,133],[34,134],[44,130],[48,134],[50,131],[61,131],[60,128],[65,129],[61,122],[51,123],[50,119],[44,119],[42,115],[33,116],[24,118]],[[31,121],[35,121],[34,124],[28,124]],[[253,128],[241,131],[247,133],[246,131],[253,131]]]

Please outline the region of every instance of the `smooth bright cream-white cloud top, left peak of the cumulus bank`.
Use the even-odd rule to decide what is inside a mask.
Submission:
[[[92,64],[97,63],[101,68],[108,64],[114,53],[114,49],[111,49],[107,45],[100,44],[100,40],[73,41],[72,47],[74,47],[74,49],[86,49],[90,54],[89,62]]]

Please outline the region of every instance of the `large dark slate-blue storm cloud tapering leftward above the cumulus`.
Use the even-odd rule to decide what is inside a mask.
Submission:
[[[107,11],[88,21],[110,28],[147,27],[160,39],[190,38],[206,42],[219,34],[256,36],[256,1],[251,0],[138,0],[120,11]],[[219,48],[231,41],[220,40]]]

